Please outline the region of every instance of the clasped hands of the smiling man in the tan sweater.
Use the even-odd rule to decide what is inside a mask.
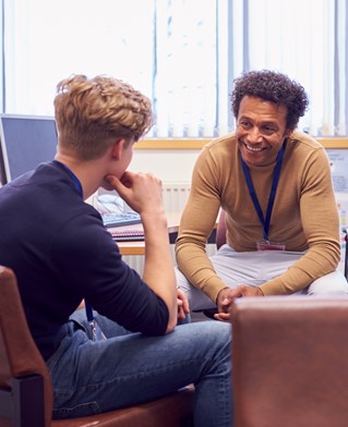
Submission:
[[[217,295],[217,309],[218,313],[214,315],[216,320],[229,321],[230,320],[230,309],[236,298],[241,296],[264,296],[261,288],[259,286],[247,286],[244,284],[238,288],[223,289]]]

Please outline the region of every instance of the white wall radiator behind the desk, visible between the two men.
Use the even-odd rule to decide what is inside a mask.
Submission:
[[[190,194],[190,183],[187,182],[167,182],[163,184],[163,202],[166,212],[181,212],[184,208]],[[208,255],[213,255],[215,245],[207,245]],[[171,245],[172,259],[175,260],[173,245]],[[140,274],[143,272],[144,256],[127,255],[122,257]]]

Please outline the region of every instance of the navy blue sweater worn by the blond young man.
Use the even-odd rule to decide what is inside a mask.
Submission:
[[[0,188],[0,265],[17,277],[45,359],[82,298],[130,331],[166,331],[165,303],[123,263],[99,213],[59,162],[43,163]]]

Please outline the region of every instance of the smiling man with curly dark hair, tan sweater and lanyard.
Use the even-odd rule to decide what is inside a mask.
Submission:
[[[309,100],[287,75],[251,71],[231,94],[235,133],[202,150],[176,243],[191,309],[228,320],[236,297],[347,293],[339,221],[324,147],[296,131]],[[205,244],[219,209],[227,244]]]

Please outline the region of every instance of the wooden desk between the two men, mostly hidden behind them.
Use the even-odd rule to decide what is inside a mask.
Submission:
[[[168,219],[168,234],[169,234],[169,242],[173,243],[177,239],[178,231],[179,231],[179,223],[180,223],[181,213],[179,212],[169,212],[167,213]],[[131,230],[131,229],[139,229],[139,224],[134,225],[125,225],[119,227],[120,230]],[[145,242],[144,241],[121,241],[117,242],[120,253],[122,255],[144,255],[145,254]]]

